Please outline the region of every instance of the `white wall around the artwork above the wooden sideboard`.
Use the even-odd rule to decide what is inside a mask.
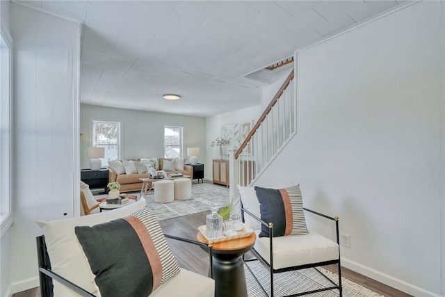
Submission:
[[[221,136],[221,126],[234,122],[253,121],[255,124],[261,115],[261,106],[253,106],[248,109],[240,109],[230,113],[221,113],[206,118],[206,146],[207,157],[204,163],[204,178],[213,179],[212,177],[212,159],[220,159],[219,147],[210,147],[212,141]]]

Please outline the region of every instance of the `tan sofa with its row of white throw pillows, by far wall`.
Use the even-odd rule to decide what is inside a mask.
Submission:
[[[108,182],[118,182],[120,192],[140,191],[140,178],[149,177],[153,171],[163,170],[167,175],[182,173],[193,180],[193,167],[185,165],[186,159],[145,158],[108,162]]]

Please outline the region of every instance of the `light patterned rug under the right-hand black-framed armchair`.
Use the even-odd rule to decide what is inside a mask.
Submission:
[[[250,269],[252,269],[259,282],[270,294],[270,278],[268,270],[258,261],[248,262]],[[335,283],[338,283],[338,275],[327,271],[323,268],[320,269],[325,275],[327,275]],[[266,297],[264,291],[259,287],[259,284],[254,280],[249,269],[245,267],[245,279],[248,287],[248,296],[250,297]],[[330,287],[332,284],[327,281],[323,275],[316,272],[314,268],[302,269],[300,271],[290,271],[286,273],[277,273],[274,275],[275,280],[275,296],[286,296],[291,294],[298,294],[302,291],[311,291],[314,289],[321,289],[323,287]],[[344,297],[383,297],[380,294],[363,287],[361,284],[352,282],[346,278],[341,278],[343,286]],[[339,296],[339,290],[323,291],[320,293],[309,294],[305,296],[310,297],[334,297]]]

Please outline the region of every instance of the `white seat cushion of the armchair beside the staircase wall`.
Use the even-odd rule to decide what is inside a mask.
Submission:
[[[257,235],[261,230],[255,230]],[[269,238],[259,237],[254,249],[270,263]],[[306,235],[273,237],[273,268],[280,269],[339,259],[339,245],[330,239],[309,232]]]

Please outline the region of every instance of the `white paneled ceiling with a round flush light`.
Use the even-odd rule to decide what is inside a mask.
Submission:
[[[403,1],[13,2],[84,24],[82,103],[207,116],[261,104],[245,74]]]

